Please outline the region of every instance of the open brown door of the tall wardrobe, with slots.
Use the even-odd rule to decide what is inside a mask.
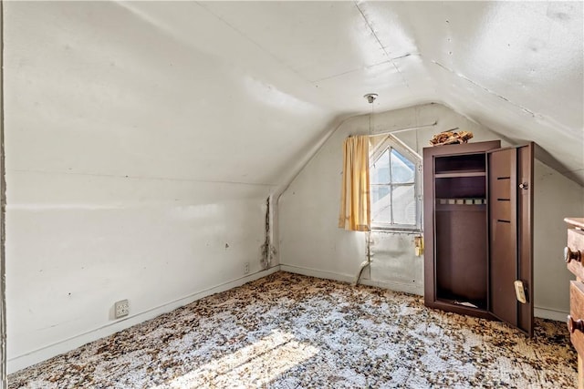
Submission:
[[[532,336],[533,143],[491,152],[488,168],[489,311]]]

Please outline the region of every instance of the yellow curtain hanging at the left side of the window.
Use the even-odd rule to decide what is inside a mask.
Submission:
[[[349,137],[343,151],[339,228],[368,231],[370,220],[369,137]]]

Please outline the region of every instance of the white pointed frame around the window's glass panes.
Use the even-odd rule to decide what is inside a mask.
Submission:
[[[394,135],[388,134],[386,138],[383,138],[380,143],[370,150],[369,166],[370,169],[373,167],[375,162],[381,158],[381,155],[387,150],[395,149],[403,157],[409,159],[414,165],[414,176],[413,176],[413,190],[415,199],[415,224],[400,224],[391,222],[381,222],[371,220],[371,230],[381,230],[381,231],[403,231],[403,232],[421,232],[422,231],[422,157],[416,153],[412,148],[404,144],[399,138]],[[372,193],[373,185],[370,183],[370,196]],[[390,191],[393,185],[400,185],[400,183],[392,184],[391,181],[388,184],[390,186]],[[410,185],[410,184],[408,184]],[[393,212],[393,202],[391,202],[391,212]]]

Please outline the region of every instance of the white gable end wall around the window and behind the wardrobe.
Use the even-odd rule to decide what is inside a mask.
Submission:
[[[369,120],[369,116],[360,116],[343,122],[280,198],[279,243],[283,269],[352,281],[361,261],[366,259],[365,233],[340,230],[337,220],[342,142],[349,135],[369,133]],[[371,120],[371,133],[399,131],[435,121],[436,126],[395,135],[420,154],[433,134],[450,128],[472,131],[473,142],[499,138],[489,129],[439,104],[376,114]],[[502,144],[508,143],[503,140]],[[584,190],[538,161],[535,169],[536,313],[563,320],[569,306],[569,274],[561,261],[566,244],[562,220],[584,214]],[[423,294],[423,260],[414,256],[413,235],[374,232],[372,237],[372,264],[364,271],[364,283]]]

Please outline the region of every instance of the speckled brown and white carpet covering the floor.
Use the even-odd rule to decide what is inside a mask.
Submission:
[[[277,272],[8,377],[28,388],[568,388],[562,322],[533,339],[400,292]]]

